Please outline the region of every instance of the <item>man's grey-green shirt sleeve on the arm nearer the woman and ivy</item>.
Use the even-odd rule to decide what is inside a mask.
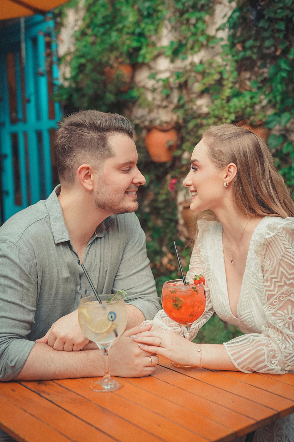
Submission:
[[[160,309],[160,298],[147,257],[145,233],[135,214],[129,218],[128,240],[113,283],[113,293],[127,290],[129,304],[137,307],[145,319],[153,319]]]

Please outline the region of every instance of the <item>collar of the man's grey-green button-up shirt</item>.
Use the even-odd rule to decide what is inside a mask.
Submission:
[[[65,241],[70,241],[70,236],[65,225],[63,218],[63,211],[58,200],[58,195],[60,194],[61,186],[60,184],[55,187],[52,193],[48,196],[46,200],[46,208],[48,210],[50,225],[53,233],[53,238],[55,244],[63,243]],[[96,234],[94,233],[89,242],[92,242],[96,238],[102,238],[108,227],[114,221],[115,216],[111,215],[105,218],[96,228]]]

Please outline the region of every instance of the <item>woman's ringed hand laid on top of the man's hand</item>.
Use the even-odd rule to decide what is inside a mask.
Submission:
[[[197,346],[173,331],[151,330],[130,337],[142,350],[160,354],[177,364],[200,366]]]

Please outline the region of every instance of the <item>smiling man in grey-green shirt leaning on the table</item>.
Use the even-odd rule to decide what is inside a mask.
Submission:
[[[79,328],[81,297],[126,290],[127,328],[109,355],[111,373],[153,373],[156,355],[129,336],[160,309],[133,213],[145,178],[131,123],[87,110],[63,120],[56,133],[60,186],[45,201],[0,228],[0,380],[100,376],[102,358]],[[102,299],[105,299],[102,295]]]

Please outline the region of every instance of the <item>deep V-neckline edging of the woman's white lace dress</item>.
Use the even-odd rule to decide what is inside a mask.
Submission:
[[[232,316],[232,318],[234,318],[234,320],[239,321],[240,320],[240,314],[239,314],[239,307],[241,304],[241,300],[242,300],[242,293],[243,293],[243,285],[244,285],[244,280],[246,278],[246,272],[247,272],[247,268],[248,268],[248,259],[249,259],[249,251],[252,247],[253,244],[253,240],[254,237],[257,234],[257,228],[261,225],[261,222],[264,220],[265,217],[263,217],[255,226],[255,229],[253,230],[253,233],[251,235],[250,241],[249,241],[249,247],[248,247],[248,252],[247,252],[247,256],[246,256],[246,263],[245,263],[245,268],[244,268],[244,273],[242,276],[242,282],[241,282],[241,289],[240,289],[240,293],[238,296],[238,302],[237,302],[237,316],[235,316],[231,310],[231,305],[230,305],[230,299],[229,299],[229,293],[227,290],[227,274],[226,274],[226,267],[225,267],[225,261],[224,261],[224,255],[223,255],[223,225],[220,223],[220,232],[219,232],[219,238],[218,240],[220,241],[220,250],[221,250],[221,260],[220,260],[220,264],[221,264],[221,274],[223,277],[223,287],[225,287],[225,292],[226,292],[226,302],[227,302],[227,308],[228,308],[228,312],[229,314]]]

